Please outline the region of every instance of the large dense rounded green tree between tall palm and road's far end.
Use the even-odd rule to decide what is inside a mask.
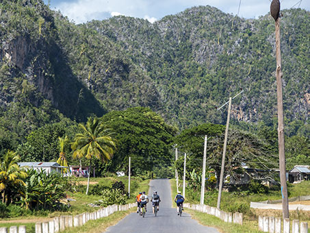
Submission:
[[[162,116],[150,108],[128,108],[113,111],[103,116],[112,127],[118,140],[118,150],[113,160],[103,169],[128,171],[131,156],[131,173],[144,174],[147,171],[168,171],[173,156],[172,137],[177,131],[164,122]],[[159,172],[158,172],[159,173]]]

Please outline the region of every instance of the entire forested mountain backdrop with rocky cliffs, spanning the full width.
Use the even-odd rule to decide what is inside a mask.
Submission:
[[[222,123],[276,127],[271,16],[246,20],[190,8],[160,21],[116,16],[75,25],[41,0],[0,0],[0,132],[21,141],[46,123],[149,107],[179,129]],[[281,19],[288,136],[309,136],[310,13]],[[254,125],[254,126],[253,126]]]

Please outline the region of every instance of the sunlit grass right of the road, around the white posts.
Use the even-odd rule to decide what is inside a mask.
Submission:
[[[172,188],[172,200],[177,194],[177,184],[175,179],[170,180]],[[179,188],[180,189],[180,188]],[[303,195],[310,195],[310,181],[305,181],[300,184],[289,184],[289,198],[298,197]],[[205,193],[205,204],[216,207],[218,198],[218,191]],[[268,194],[250,194],[246,192],[222,192],[221,209],[227,212],[242,212],[244,214],[244,220],[242,226],[237,224],[224,223],[220,219],[211,216],[209,214],[203,214],[194,210],[186,209],[186,211],[192,213],[192,217],[199,222],[209,226],[218,227],[223,232],[259,232],[258,229],[258,216],[274,216],[282,217],[282,210],[259,210],[250,208],[250,201],[266,201],[281,199],[280,191],[270,191]],[[193,192],[188,188],[185,189],[185,202],[192,204],[199,204],[200,202],[200,190]],[[290,219],[299,219],[300,221],[307,221],[310,224],[310,212],[302,210],[289,211]],[[212,223],[216,223],[212,225]],[[228,225],[229,228],[225,226]],[[223,227],[221,227],[223,226]],[[238,230],[239,229],[239,230]],[[242,230],[240,230],[242,229]],[[310,230],[309,230],[310,232]]]

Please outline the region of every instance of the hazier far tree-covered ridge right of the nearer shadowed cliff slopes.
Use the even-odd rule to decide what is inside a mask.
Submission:
[[[292,9],[283,14],[286,117],[305,123],[309,116],[309,12]],[[88,25],[118,42],[148,71],[164,100],[168,121],[196,125],[207,116],[212,122],[224,123],[225,114],[219,116],[214,106],[242,87],[246,92],[233,103],[235,118],[272,125],[276,114],[275,42],[269,15],[245,20],[206,6],[153,24],[119,16]],[[299,71],[300,67],[304,69]]]

